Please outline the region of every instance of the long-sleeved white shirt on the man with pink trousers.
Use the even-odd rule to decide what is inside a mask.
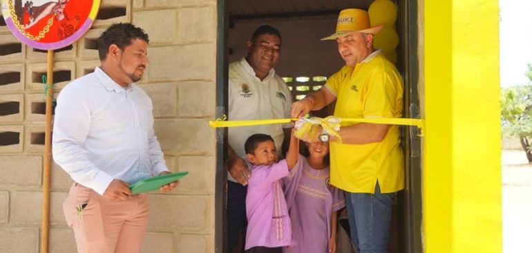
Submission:
[[[100,68],[72,81],[57,97],[55,163],[102,195],[113,179],[131,184],[168,170],[152,109],[137,85],[124,88]]]

